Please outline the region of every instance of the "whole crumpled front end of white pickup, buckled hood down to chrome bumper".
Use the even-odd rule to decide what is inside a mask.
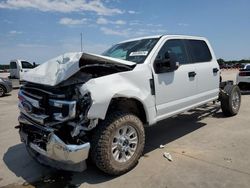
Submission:
[[[84,170],[91,131],[107,111],[102,105],[106,109],[100,108],[99,116],[88,116],[97,101],[92,100],[94,93],[87,88],[83,90],[84,85],[134,67],[135,63],[124,60],[70,53],[27,73],[18,94],[18,128],[29,153],[52,167]]]

